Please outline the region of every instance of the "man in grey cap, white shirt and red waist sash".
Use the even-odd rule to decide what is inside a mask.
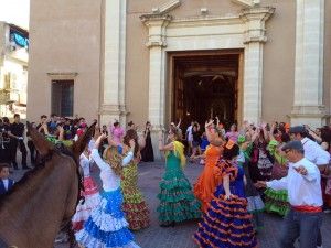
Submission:
[[[257,187],[287,190],[291,205],[284,220],[280,247],[293,248],[300,238],[300,248],[316,248],[322,225],[322,192],[320,171],[303,155],[300,141],[290,141],[282,147],[289,161],[288,175],[270,182],[258,181]]]

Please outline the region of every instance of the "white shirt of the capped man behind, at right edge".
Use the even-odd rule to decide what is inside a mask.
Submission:
[[[305,158],[317,165],[324,165],[330,162],[330,153],[324,151],[317,142],[309,138],[301,140],[305,150]]]

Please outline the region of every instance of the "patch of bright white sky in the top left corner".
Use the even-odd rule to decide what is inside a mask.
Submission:
[[[30,0],[0,0],[0,21],[29,30]]]

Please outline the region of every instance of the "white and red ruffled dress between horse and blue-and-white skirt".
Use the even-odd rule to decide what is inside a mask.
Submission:
[[[89,175],[90,164],[92,160],[82,153],[79,158],[79,165],[84,172],[84,192],[82,191],[81,195],[84,196],[84,200],[81,200],[78,203],[76,213],[72,218],[74,231],[83,229],[84,223],[88,219],[90,212],[100,203],[100,195],[97,185]]]

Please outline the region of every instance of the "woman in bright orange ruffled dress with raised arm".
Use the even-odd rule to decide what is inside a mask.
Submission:
[[[214,140],[223,142],[222,133],[213,128],[212,122],[205,123],[205,132],[211,144],[204,152],[205,166],[194,184],[194,195],[202,203],[202,212],[206,212],[217,185],[222,182],[215,170],[217,170],[216,164],[223,153],[223,145],[215,145],[213,142]]]

